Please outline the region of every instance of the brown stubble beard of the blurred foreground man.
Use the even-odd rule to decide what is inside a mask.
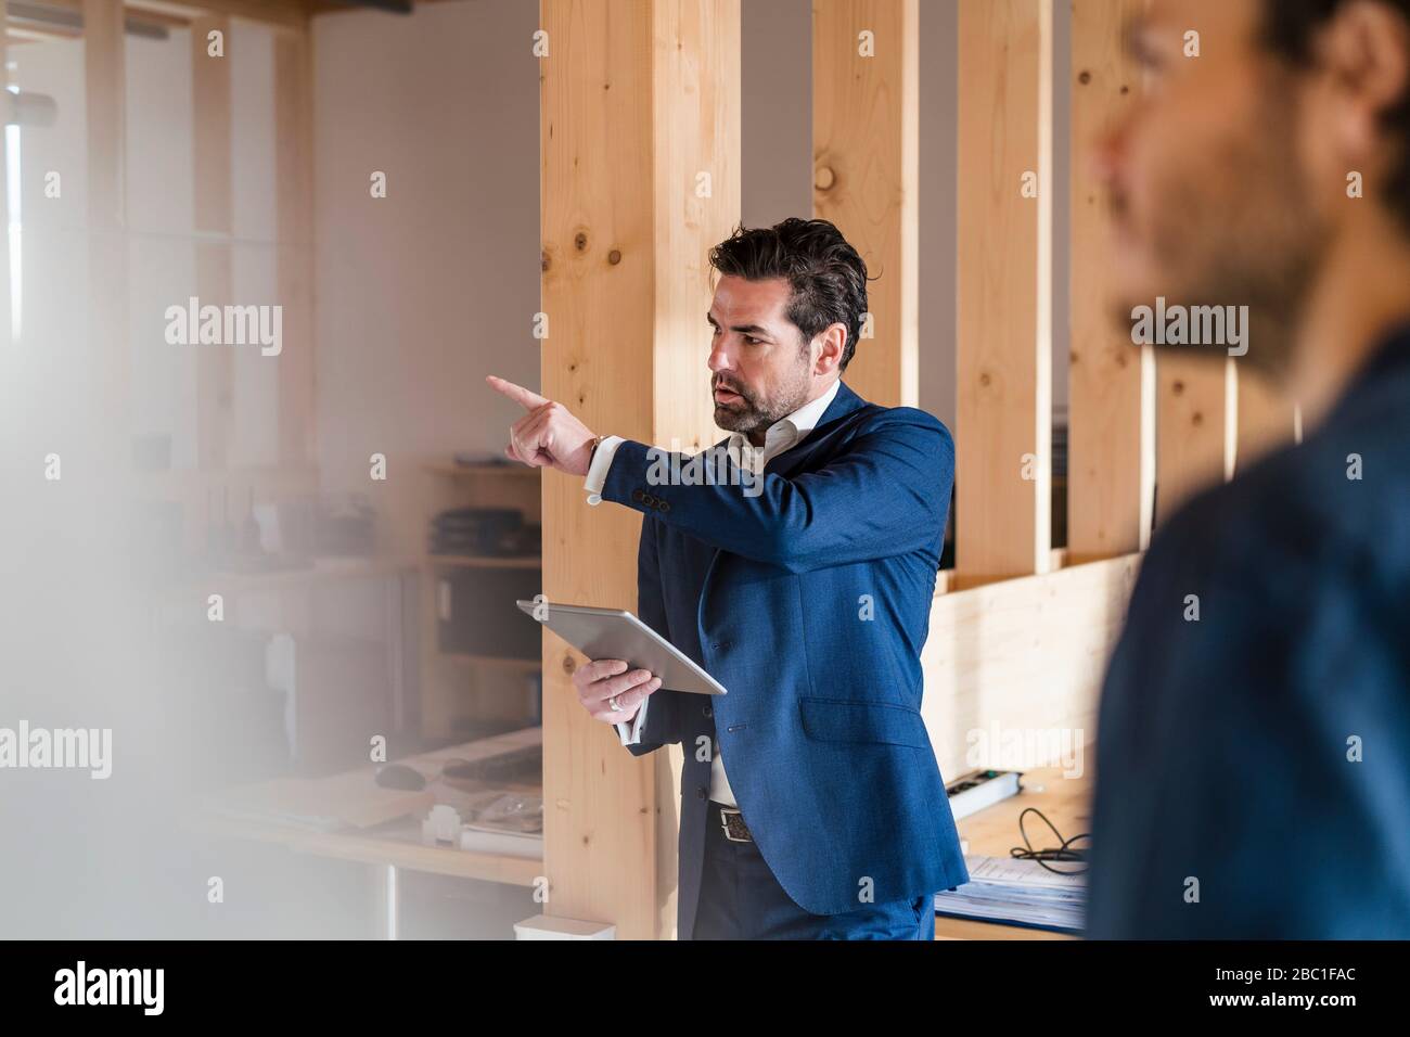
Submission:
[[[1248,353],[1241,364],[1282,378],[1311,293],[1328,231],[1297,154],[1293,87],[1270,73],[1253,126],[1232,135],[1204,165],[1167,162],[1139,226],[1159,271],[1166,305],[1248,306]],[[1112,193],[1112,217],[1131,226],[1128,199]],[[1112,301],[1121,327],[1155,298]],[[1213,356],[1208,346],[1163,346]],[[1224,356],[1218,353],[1218,356]]]

